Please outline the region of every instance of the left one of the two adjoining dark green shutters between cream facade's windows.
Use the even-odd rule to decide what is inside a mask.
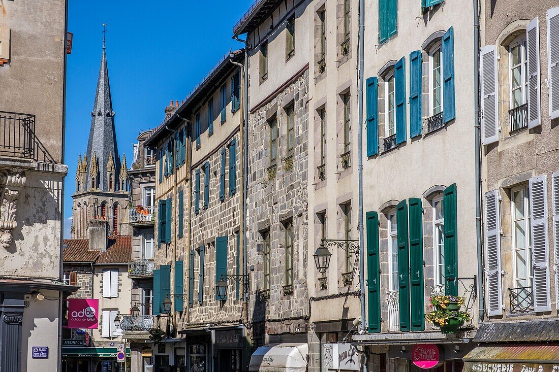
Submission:
[[[400,331],[410,331],[410,257],[408,247],[408,203],[402,200],[396,207],[398,223],[398,295],[400,302]]]

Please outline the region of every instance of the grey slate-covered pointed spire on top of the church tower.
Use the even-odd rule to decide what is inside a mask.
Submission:
[[[91,156],[97,154],[98,169],[103,171],[99,175],[97,188],[107,190],[107,169],[109,157],[115,161],[115,173],[120,173],[120,156],[116,144],[115,132],[115,112],[112,111],[111,88],[108,82],[107,56],[105,54],[105,41],[103,40],[103,54],[101,56],[101,67],[99,69],[99,79],[97,80],[97,91],[95,93],[95,103],[91,112],[91,129],[89,130],[89,141],[85,161],[91,167],[93,163]],[[88,173],[91,170],[88,169]],[[91,188],[91,179],[87,180],[86,190]]]

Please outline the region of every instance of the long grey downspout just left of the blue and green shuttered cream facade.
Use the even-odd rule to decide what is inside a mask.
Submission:
[[[358,171],[359,174],[359,215],[358,215],[358,228],[359,228],[359,300],[361,300],[361,332],[367,330],[366,317],[365,317],[365,250],[363,239],[363,54],[364,54],[364,35],[365,35],[365,1],[359,0],[359,67],[357,69],[358,78],[358,93],[357,93],[357,107],[358,107]]]

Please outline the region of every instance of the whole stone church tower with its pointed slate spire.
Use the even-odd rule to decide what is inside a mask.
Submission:
[[[91,220],[105,220],[109,235],[129,235],[130,194],[126,157],[116,144],[115,112],[108,83],[105,40],[87,152],[79,155],[72,207],[72,239],[87,239]]]

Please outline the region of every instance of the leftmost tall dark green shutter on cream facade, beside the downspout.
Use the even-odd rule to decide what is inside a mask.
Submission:
[[[378,257],[378,213],[367,212],[367,309],[369,333],[381,331],[380,262]]]

